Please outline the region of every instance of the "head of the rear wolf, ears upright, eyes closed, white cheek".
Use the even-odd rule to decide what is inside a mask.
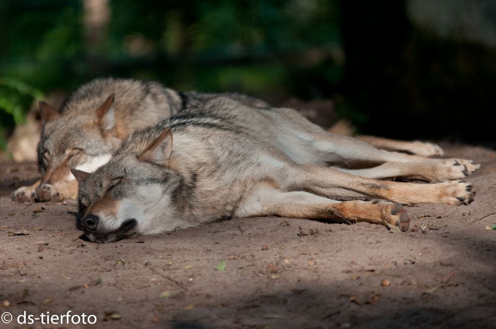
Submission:
[[[38,166],[42,183],[74,179],[71,168],[92,172],[107,163],[119,139],[115,130],[114,95],[85,113],[60,114],[40,102],[43,130],[38,144]]]

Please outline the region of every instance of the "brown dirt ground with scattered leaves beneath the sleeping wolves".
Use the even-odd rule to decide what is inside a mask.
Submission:
[[[496,328],[496,153],[447,150],[483,164],[475,201],[411,207],[408,232],[271,217],[104,245],[80,239],[74,202],[13,204],[36,168],[0,163],[0,327],[84,328],[16,324],[71,310],[92,328]]]

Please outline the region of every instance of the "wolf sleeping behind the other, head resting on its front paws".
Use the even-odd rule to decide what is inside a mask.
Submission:
[[[262,100],[236,93],[224,96],[254,107]],[[70,169],[94,171],[107,163],[124,136],[156,125],[218,94],[177,92],[157,82],[101,78],[77,89],[61,110],[40,102],[43,119],[38,143],[41,180],[12,194],[16,202],[60,202],[76,198],[77,181]]]

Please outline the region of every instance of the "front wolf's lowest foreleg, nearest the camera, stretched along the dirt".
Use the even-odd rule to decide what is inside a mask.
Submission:
[[[257,186],[248,193],[235,216],[366,221],[387,228],[398,226],[402,231],[408,229],[410,222],[402,205],[383,200],[340,202],[304,191],[284,192],[264,185]]]

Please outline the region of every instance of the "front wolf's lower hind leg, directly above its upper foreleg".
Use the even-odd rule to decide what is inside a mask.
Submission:
[[[427,182],[443,182],[463,179],[469,175],[467,166],[456,160],[431,160],[426,162],[387,162],[367,169],[343,169],[340,171],[373,179],[402,178],[406,180],[423,180]]]

